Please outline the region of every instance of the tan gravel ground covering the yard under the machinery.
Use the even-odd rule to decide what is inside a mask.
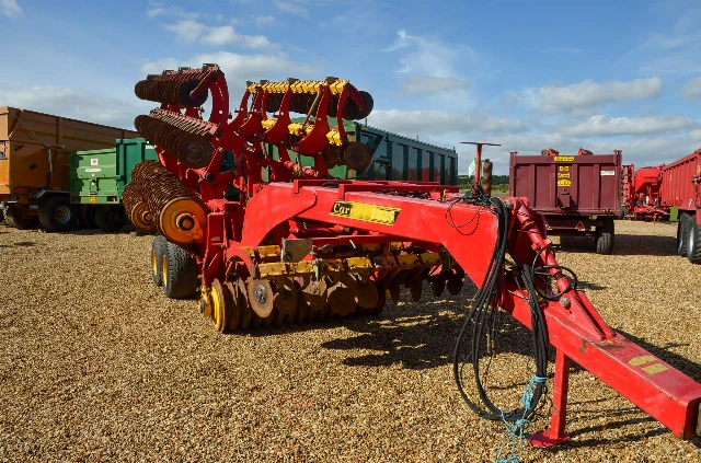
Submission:
[[[616,255],[575,243],[561,263],[613,327],[701,381],[701,267],[674,255],[673,225],[617,228]],[[0,225],[0,461],[495,460],[504,426],[476,418],[451,377],[469,294],[219,335],[151,283],[149,248]],[[522,461],[701,461],[699,440],[586,371],[570,398],[572,443]]]

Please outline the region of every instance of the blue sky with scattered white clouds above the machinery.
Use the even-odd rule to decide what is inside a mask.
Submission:
[[[701,147],[701,1],[0,0],[0,105],[131,128],[149,72],[218,62],[246,80],[335,76],[368,124],[471,149],[659,164]]]

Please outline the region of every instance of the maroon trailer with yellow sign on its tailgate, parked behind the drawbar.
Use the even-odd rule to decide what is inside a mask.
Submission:
[[[621,208],[621,151],[560,155],[512,152],[509,196],[527,197],[545,218],[549,235],[584,235],[596,240],[598,254],[613,251],[613,217]]]

